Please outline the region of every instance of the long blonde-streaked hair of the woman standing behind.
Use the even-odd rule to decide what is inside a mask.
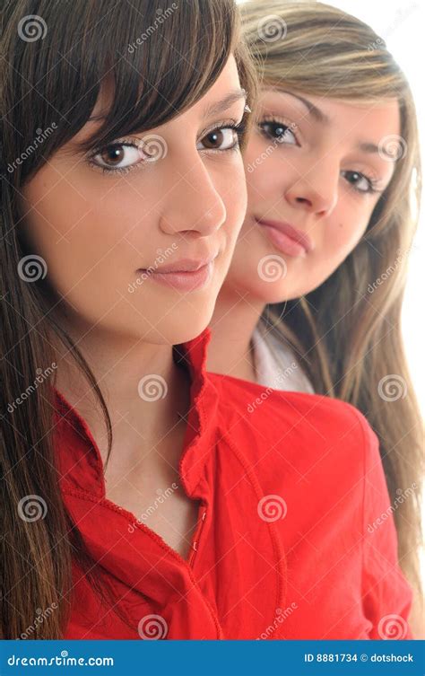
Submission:
[[[267,306],[260,326],[292,348],[317,393],[350,402],[377,433],[399,562],[421,598],[424,435],[401,333],[421,194],[412,92],[385,41],[335,7],[249,0],[241,9],[265,88],[372,105],[399,101],[400,138],[386,139],[395,153],[395,173],[364,237],[317,289]]]

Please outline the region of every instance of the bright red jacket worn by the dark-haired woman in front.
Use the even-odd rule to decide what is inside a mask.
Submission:
[[[365,418],[205,373],[209,338],[174,353],[192,379],[180,476],[201,500],[188,562],[105,498],[99,449],[56,391],[60,485],[107,590],[102,601],[74,564],[64,637],[412,638],[412,588]]]

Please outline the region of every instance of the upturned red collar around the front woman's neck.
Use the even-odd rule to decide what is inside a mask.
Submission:
[[[186,365],[191,379],[184,452],[179,465],[188,496],[195,493],[204,461],[215,445],[218,399],[212,383],[205,377],[206,348],[210,339],[211,331],[205,329],[197,338],[173,347],[176,363]],[[103,461],[98,445],[76,409],[60,391],[56,388],[54,391],[54,437],[61,487],[77,488],[104,497]]]

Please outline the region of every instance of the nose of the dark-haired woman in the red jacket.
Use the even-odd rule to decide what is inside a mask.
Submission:
[[[170,162],[164,173],[162,232],[207,237],[220,230],[226,207],[199,154],[188,155],[186,163],[180,154],[178,167]]]

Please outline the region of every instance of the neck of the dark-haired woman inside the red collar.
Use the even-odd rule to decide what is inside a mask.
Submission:
[[[154,447],[181,426],[178,414],[185,416],[189,407],[189,375],[175,364],[172,347],[75,322],[66,329],[105,399],[113,447],[148,461]],[[98,398],[71,354],[63,346],[57,352],[56,388],[85,420],[105,461],[108,434]]]

